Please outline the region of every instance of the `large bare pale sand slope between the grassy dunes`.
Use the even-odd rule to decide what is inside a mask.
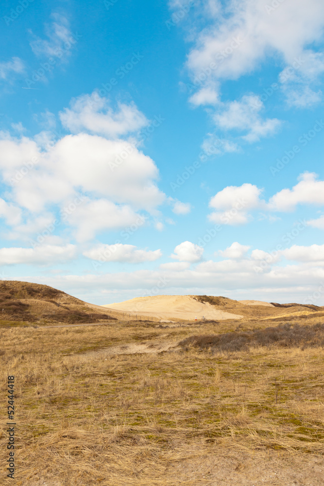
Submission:
[[[106,304],[108,307],[120,312],[129,312],[131,316],[137,314],[137,319],[143,317],[155,317],[162,321],[171,320],[202,320],[206,319],[240,319],[239,314],[233,314],[217,309],[208,302],[198,302],[190,295],[154,295],[153,297],[136,297],[114,304]]]

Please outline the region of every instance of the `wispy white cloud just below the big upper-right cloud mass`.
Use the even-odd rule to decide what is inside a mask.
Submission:
[[[276,118],[263,121],[259,115],[262,108],[263,103],[258,96],[243,96],[240,101],[224,104],[223,111],[216,113],[213,119],[224,130],[247,130],[247,135],[242,138],[255,142],[275,133],[281,124]]]

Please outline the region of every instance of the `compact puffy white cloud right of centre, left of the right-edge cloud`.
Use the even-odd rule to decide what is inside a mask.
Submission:
[[[241,186],[227,186],[213,196],[209,207],[216,209],[209,214],[208,219],[214,223],[224,225],[241,225],[249,221],[250,209],[263,208],[264,201],[260,200],[262,190],[252,184]]]

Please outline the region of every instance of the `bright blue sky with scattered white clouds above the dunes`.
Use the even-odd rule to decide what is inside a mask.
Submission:
[[[324,305],[322,1],[0,19],[2,279]]]

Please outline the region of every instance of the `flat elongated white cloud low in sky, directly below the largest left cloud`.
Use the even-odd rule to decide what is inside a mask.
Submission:
[[[98,261],[119,261],[125,263],[142,263],[144,261],[155,261],[161,258],[161,250],[138,250],[131,244],[100,244],[90,250],[84,251],[83,255],[92,260]]]

